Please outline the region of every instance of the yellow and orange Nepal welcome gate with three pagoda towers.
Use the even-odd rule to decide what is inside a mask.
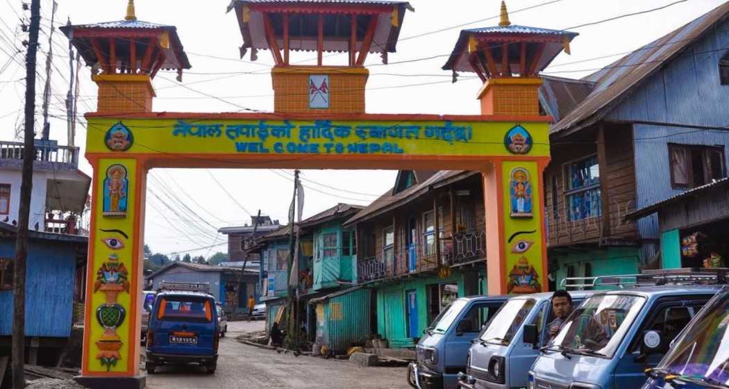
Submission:
[[[394,51],[409,4],[237,0],[230,8],[243,34],[241,54],[251,50],[255,57],[267,48],[276,61],[275,111],[156,113],[152,77],[190,64],[174,27],[136,20],[131,3],[120,22],[63,28],[87,63],[102,70],[93,76],[98,112],[86,115],[94,185],[82,383],[143,385],[139,296],[147,172],[153,168],[480,171],[488,293],[546,290],[542,171],[550,160],[551,118],[539,115],[537,72],[575,34],[510,31],[502,4],[496,32],[461,31],[444,67],[482,77],[482,115],[367,114],[364,57],[373,52],[386,60]],[[289,32],[309,24],[318,26],[316,38]],[[351,26],[348,39],[338,36],[341,25]],[[373,47],[378,36],[390,44]],[[289,64],[289,50],[310,49],[318,51],[318,66]],[[349,66],[322,66],[321,53],[337,50],[349,52]]]

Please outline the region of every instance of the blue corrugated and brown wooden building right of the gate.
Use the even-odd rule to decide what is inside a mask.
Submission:
[[[550,273],[657,267],[658,217],[625,215],[726,175],[729,4],[581,80],[542,77]],[[722,49],[722,47],[724,47]]]

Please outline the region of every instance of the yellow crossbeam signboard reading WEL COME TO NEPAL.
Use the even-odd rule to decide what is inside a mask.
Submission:
[[[91,154],[549,155],[547,123],[95,117],[88,122]]]

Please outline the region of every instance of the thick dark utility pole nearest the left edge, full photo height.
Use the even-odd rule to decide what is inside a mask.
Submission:
[[[26,128],[23,142],[23,182],[20,183],[20,207],[17,215],[15,271],[13,274],[12,317],[12,387],[26,387],[23,363],[26,360],[26,257],[28,256],[28,220],[31,213],[33,161],[35,159],[34,126],[36,108],[36,54],[41,21],[41,1],[31,1],[31,29],[26,54]]]

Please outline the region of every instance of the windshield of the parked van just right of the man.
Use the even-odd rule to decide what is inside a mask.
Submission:
[[[643,304],[640,296],[592,296],[569,315],[552,344],[568,353],[612,358]]]

